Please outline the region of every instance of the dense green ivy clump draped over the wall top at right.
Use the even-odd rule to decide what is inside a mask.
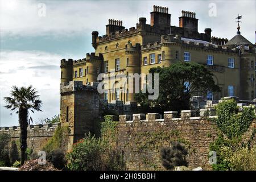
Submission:
[[[216,111],[216,125],[229,139],[245,133],[255,118],[254,106],[243,107],[242,112],[238,113],[238,106],[233,99],[222,101],[217,105]]]

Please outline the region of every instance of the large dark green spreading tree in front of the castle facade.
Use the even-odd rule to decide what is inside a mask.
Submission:
[[[197,63],[177,62],[166,68],[151,68],[149,73],[159,73],[159,97],[148,100],[148,93],[135,94],[135,100],[142,111],[163,113],[170,110],[189,109],[192,94],[205,94],[207,91],[219,92],[214,84],[213,74]],[[154,75],[153,75],[154,86]]]

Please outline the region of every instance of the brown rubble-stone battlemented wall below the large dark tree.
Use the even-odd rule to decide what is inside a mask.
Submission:
[[[201,109],[203,113],[205,109]],[[184,113],[191,113],[188,110]],[[209,145],[218,135],[217,126],[205,117],[181,117],[174,118],[175,111],[164,113],[164,119],[159,119],[159,114],[149,113],[147,119],[142,114],[119,115],[117,128],[118,144],[125,151],[125,160],[129,170],[162,170],[160,148],[170,146],[172,141],[184,143],[188,148],[187,161],[189,167],[203,167],[211,169],[208,162]],[[216,118],[209,112],[209,118]],[[186,115],[187,116],[187,115]],[[133,120],[130,120],[133,118]],[[130,120],[130,121],[129,121]],[[247,142],[256,123],[243,134],[242,141]],[[256,136],[252,140],[256,144]]]

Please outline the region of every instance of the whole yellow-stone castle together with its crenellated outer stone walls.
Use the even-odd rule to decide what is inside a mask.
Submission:
[[[255,45],[241,35],[239,26],[237,34],[230,40],[213,37],[210,28],[200,34],[196,14],[188,11],[181,12],[179,27],[171,26],[167,7],[154,6],[150,24],[146,24],[146,18],[139,18],[136,28],[127,30],[122,23],[109,19],[106,35],[98,36],[98,32],[92,32],[94,53],[87,53],[81,60],[61,60],[60,123],[29,126],[28,147],[40,150],[57,126],[68,125],[68,150],[71,150],[72,144],[85,133],[94,131],[102,116],[112,114],[119,115],[114,120],[119,121],[117,138],[125,151],[128,169],[155,169],[150,163],[144,164],[145,159],[154,161],[161,169],[155,146],[167,145],[171,140],[188,143],[190,166],[210,168],[209,144],[216,139],[217,130],[214,123],[205,119],[205,113],[209,118],[216,118],[214,106],[222,102],[221,98],[236,99],[240,110],[247,105],[256,106],[252,101],[255,98]],[[218,93],[193,97],[199,113],[183,110],[181,117],[177,117],[176,111],[166,111],[163,115],[141,114],[134,94],[125,92],[127,86],[120,87],[115,82],[104,93],[97,92],[100,73],[110,76],[114,70],[114,74],[127,77],[128,73],[148,73],[152,67],[168,67],[177,61],[205,65],[221,88]],[[143,89],[143,80],[140,83],[139,87]],[[242,138],[246,141],[253,136],[255,144],[256,136],[252,135],[255,129],[253,121]],[[0,127],[0,133],[9,133],[14,140],[19,138],[19,132],[19,127]],[[148,133],[164,138],[154,138],[154,148],[141,151],[138,143],[142,140],[146,144],[152,142],[147,140]]]

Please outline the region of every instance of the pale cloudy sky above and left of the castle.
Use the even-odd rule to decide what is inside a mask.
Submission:
[[[93,52],[91,32],[105,34],[108,19],[134,27],[139,17],[150,24],[153,5],[169,8],[171,25],[179,26],[181,10],[193,11],[199,32],[232,38],[237,14],[241,34],[255,43],[255,1],[26,1],[0,0],[0,126],[18,125],[3,106],[12,85],[32,84],[43,101],[34,121],[59,114],[60,59],[82,59]],[[216,11],[215,8],[216,7]]]

